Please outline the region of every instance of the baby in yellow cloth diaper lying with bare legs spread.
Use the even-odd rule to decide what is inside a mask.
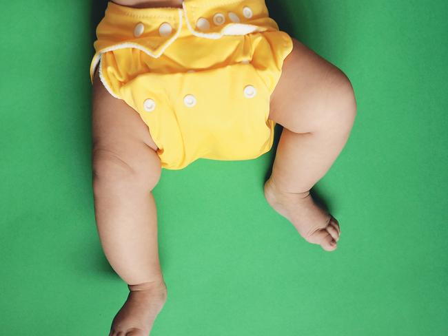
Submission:
[[[278,29],[263,0],[116,0],[96,28],[92,165],[96,225],[130,293],[110,335],[148,335],[167,297],[152,189],[161,169],[248,160],[283,126],[267,203],[334,251],[338,221],[309,190],[356,116],[347,76]]]

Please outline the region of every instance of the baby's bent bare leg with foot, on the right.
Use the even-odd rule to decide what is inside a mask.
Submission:
[[[303,238],[333,251],[340,235],[338,222],[317,206],[309,190],[347,142],[356,101],[343,72],[293,41],[271,97],[269,119],[282,125],[283,131],[265,196]]]

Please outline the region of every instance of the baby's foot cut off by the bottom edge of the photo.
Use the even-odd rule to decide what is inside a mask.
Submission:
[[[128,285],[128,300],[116,313],[109,336],[147,336],[167,297],[163,280]]]

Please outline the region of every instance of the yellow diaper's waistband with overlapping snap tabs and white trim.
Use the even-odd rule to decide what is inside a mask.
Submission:
[[[108,2],[96,27],[90,79],[103,52],[136,48],[158,58],[179,36],[204,39],[278,30],[264,0],[185,0],[182,8],[130,8]]]

